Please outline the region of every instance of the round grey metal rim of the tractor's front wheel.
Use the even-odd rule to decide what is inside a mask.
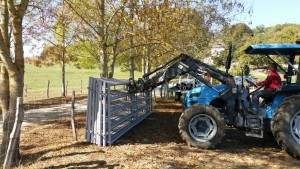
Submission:
[[[217,125],[213,118],[202,114],[193,117],[189,123],[191,136],[200,142],[211,140],[217,132]]]

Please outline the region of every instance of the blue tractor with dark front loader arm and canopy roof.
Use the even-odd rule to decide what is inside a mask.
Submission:
[[[257,112],[249,110],[250,98],[260,88],[250,92],[249,86],[255,84],[246,78],[248,66],[244,68],[242,83],[236,83],[228,73],[231,54],[226,60],[226,71],[181,54],[137,81],[130,79],[129,92],[152,90],[188,73],[202,82],[186,94],[177,92],[175,97],[184,107],[178,124],[179,133],[190,146],[216,148],[225,137],[226,126],[233,126],[251,137],[263,138],[264,132],[272,132],[277,143],[290,156],[300,159],[300,72],[296,66],[299,64],[300,44],[257,44],[249,46],[245,53],[262,55],[272,63],[276,63],[272,58],[280,57],[287,65],[287,69],[278,65],[285,74],[285,81],[272,97],[264,98]],[[210,75],[220,84],[212,85],[203,75]]]

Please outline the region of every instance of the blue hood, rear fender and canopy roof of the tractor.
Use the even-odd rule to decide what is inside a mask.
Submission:
[[[256,44],[250,45],[246,50],[246,54],[259,55],[300,55],[300,44]],[[288,84],[285,86],[287,90],[277,92],[273,102],[270,105],[261,105],[265,111],[265,119],[271,119],[273,113],[280,103],[288,96],[294,95],[300,91],[300,85]],[[291,88],[291,89],[289,89]],[[220,92],[226,89],[226,85],[215,85],[213,88],[208,86],[199,86],[190,90],[185,96],[185,107],[188,108],[195,103],[210,105],[212,101],[221,99]],[[225,100],[226,101],[226,100]]]

